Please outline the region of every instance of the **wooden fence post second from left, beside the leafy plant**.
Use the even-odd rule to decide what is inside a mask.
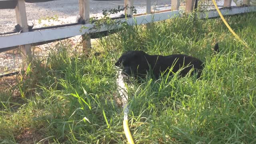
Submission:
[[[90,23],[90,0],[79,0],[79,13],[86,24]],[[83,52],[88,54],[91,49],[90,34],[82,35]]]

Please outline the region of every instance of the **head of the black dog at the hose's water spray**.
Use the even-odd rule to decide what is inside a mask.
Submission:
[[[121,67],[125,75],[146,74],[148,70],[147,56],[148,54],[143,51],[128,51],[120,56],[115,66]]]

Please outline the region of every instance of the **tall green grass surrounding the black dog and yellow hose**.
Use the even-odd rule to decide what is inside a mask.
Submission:
[[[206,63],[201,80],[168,78],[128,86],[129,126],[136,143],[256,142],[256,13],[178,18],[126,27],[99,40],[89,58],[58,45],[18,84],[24,98],[0,92],[0,142],[126,143],[114,62],[127,50],[189,54]],[[221,52],[211,58],[216,41]],[[92,51],[92,53],[94,50]]]

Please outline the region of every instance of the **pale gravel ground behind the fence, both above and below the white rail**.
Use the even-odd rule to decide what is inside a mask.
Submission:
[[[152,9],[163,10],[170,8],[171,0],[151,0]],[[218,2],[223,4],[223,2]],[[124,0],[111,1],[94,1],[90,0],[90,17],[99,17],[102,15],[102,10],[117,8],[118,5],[124,6]],[[146,12],[146,0],[134,0],[134,6],[137,13]],[[159,7],[160,6],[160,7]],[[234,6],[234,3],[232,3]],[[0,33],[10,32],[16,25],[16,17],[14,9],[0,10]],[[34,24],[34,28],[43,26],[51,26],[58,24],[69,24],[76,22],[79,15],[78,0],[56,0],[51,2],[41,3],[26,3],[26,12],[28,24]],[[122,12],[121,12],[122,13]],[[113,15],[118,16],[119,14]],[[56,19],[44,20],[46,16],[55,17]],[[72,45],[75,45],[79,36],[68,39]],[[54,47],[58,42],[37,46],[33,50],[37,51],[38,56],[46,56],[49,52],[49,46]],[[14,54],[15,52],[0,53],[0,75],[8,72],[16,71],[20,68],[21,56]]]

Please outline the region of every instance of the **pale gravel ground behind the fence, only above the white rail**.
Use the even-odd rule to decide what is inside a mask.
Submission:
[[[170,5],[171,0],[152,0],[152,6]],[[91,16],[98,16],[102,10],[117,8],[124,5],[124,0],[94,1],[90,0]],[[146,0],[135,0],[134,6],[138,13],[145,12]],[[28,24],[34,23],[34,28],[41,27],[38,20],[46,16],[58,16],[57,24],[74,23],[79,14],[78,0],[56,0],[41,3],[26,3]],[[9,32],[16,25],[14,9],[1,10],[0,12],[0,33]]]

